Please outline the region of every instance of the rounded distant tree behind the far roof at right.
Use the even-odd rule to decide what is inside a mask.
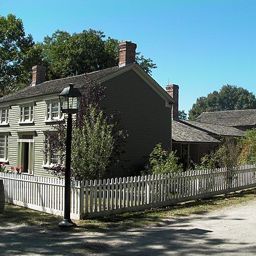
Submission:
[[[223,86],[219,92],[214,91],[207,97],[200,97],[188,112],[190,120],[202,112],[256,109],[256,99],[253,93],[242,87]]]

